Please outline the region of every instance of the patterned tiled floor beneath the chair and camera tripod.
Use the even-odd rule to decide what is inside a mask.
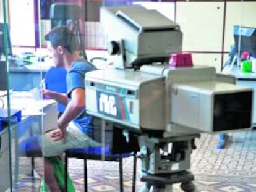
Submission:
[[[196,141],[197,149],[192,154],[191,171],[195,175],[195,185],[201,192],[249,192],[256,191],[256,130],[229,133],[227,147],[216,149],[218,136],[203,134]],[[69,172],[75,188],[83,191],[83,161],[69,161]],[[132,187],[132,157],[124,160],[124,191]],[[30,161],[23,159],[20,182],[15,191],[38,191],[39,178],[35,178],[35,189],[32,179],[28,177]],[[140,182],[140,160],[138,160],[137,185]],[[23,170],[23,171],[22,171]],[[119,191],[117,162],[88,161],[88,186],[91,192]],[[174,185],[174,192],[181,191]]]

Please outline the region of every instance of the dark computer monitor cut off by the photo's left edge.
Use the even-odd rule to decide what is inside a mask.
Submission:
[[[4,33],[7,33],[7,44],[4,42]],[[5,46],[7,46],[7,54],[12,54],[12,46],[9,33],[9,25],[7,23],[0,23],[0,56],[4,54]]]

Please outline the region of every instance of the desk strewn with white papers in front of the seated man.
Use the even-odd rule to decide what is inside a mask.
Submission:
[[[58,118],[57,104],[53,100],[35,101],[32,94],[27,91],[14,91],[11,93],[10,98],[11,107],[13,109],[22,109],[23,115],[21,122],[14,123],[10,128],[6,127],[1,131],[0,151],[4,151],[3,155],[0,155],[1,192],[14,186],[15,183],[20,182],[20,180],[27,175],[26,170],[24,170],[24,165],[22,164],[23,166],[20,166],[19,157],[23,156],[18,148],[20,141],[30,137],[31,134],[40,135],[43,129],[56,125]],[[8,136],[9,131],[11,133],[11,150]],[[11,151],[12,159],[11,168],[9,165],[9,151]],[[28,166],[26,166],[26,169]],[[11,173],[12,181],[10,178]],[[27,175],[27,177],[30,178],[30,175]]]

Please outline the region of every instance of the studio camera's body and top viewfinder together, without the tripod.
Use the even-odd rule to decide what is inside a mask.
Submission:
[[[121,69],[85,74],[88,114],[172,136],[251,128],[251,88],[233,85],[233,77],[218,75],[214,67],[161,63],[181,52],[179,25],[141,6],[104,7],[100,13],[108,37],[120,40],[112,56]]]

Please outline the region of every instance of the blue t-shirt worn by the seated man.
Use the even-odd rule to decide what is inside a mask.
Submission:
[[[67,71],[67,96],[70,98],[75,88],[85,89],[85,73],[96,70],[96,67],[83,59],[73,62]],[[83,133],[92,134],[92,116],[87,115],[85,109],[73,120]]]

